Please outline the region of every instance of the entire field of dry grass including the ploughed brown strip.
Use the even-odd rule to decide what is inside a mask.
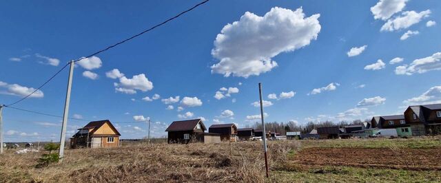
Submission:
[[[74,149],[36,168],[40,153],[0,156],[0,182],[441,182],[441,138],[126,144]]]

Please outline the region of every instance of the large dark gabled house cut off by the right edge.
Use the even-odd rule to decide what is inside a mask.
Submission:
[[[409,106],[404,118],[413,136],[441,134],[441,104]]]

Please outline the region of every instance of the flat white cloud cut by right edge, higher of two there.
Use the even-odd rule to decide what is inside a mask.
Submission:
[[[414,60],[410,65],[401,65],[396,67],[395,74],[422,74],[431,70],[441,69],[441,52],[437,52],[432,56],[425,58],[418,58]]]

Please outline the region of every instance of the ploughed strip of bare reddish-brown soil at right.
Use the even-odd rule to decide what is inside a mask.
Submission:
[[[405,170],[441,171],[441,148],[320,148],[302,149],[293,164],[377,167]]]

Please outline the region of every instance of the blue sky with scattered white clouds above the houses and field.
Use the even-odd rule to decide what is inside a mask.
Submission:
[[[198,2],[1,3],[0,103]],[[209,1],[77,65],[70,116],[110,119],[122,138],[145,136],[145,122],[132,122],[141,116],[152,118],[153,136],[185,118],[245,127],[259,120],[259,82],[266,121],[400,114],[441,100],[440,17],[435,0]],[[112,69],[119,74],[107,76]],[[14,107],[62,115],[67,78],[65,69]],[[60,118],[6,108],[3,121],[7,141],[59,140]],[[69,120],[68,136],[85,123]]]

